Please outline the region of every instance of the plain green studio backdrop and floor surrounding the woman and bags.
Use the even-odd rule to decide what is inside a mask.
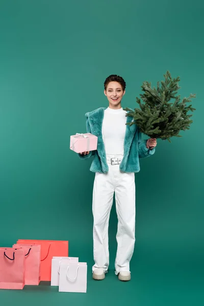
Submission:
[[[0,1],[0,245],[69,240],[88,264],[86,294],[48,284],[0,291],[11,305],[203,305],[202,1]],[[107,107],[109,74],[126,81],[122,107],[135,108],[143,81],[166,70],[196,111],[190,131],[158,141],[136,175],[136,247],[131,282],[114,275],[117,218],[110,219],[110,272],[91,278],[91,160],[69,149],[85,113]]]

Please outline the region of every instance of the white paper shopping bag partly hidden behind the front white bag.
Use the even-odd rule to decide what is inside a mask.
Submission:
[[[79,262],[78,257],[53,257],[51,267],[51,286],[59,286],[60,263]]]

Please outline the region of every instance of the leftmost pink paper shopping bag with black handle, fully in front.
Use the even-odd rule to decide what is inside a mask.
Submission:
[[[0,289],[23,289],[25,285],[25,251],[0,248]]]

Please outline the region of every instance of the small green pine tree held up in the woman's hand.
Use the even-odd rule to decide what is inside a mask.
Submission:
[[[143,82],[141,99],[136,97],[136,101],[140,109],[135,108],[129,111],[126,116],[132,116],[133,120],[127,124],[137,124],[140,131],[151,138],[168,139],[173,136],[182,137],[179,135],[180,131],[189,130],[190,124],[193,122],[190,118],[192,114],[187,114],[188,111],[194,111],[192,105],[187,106],[196,94],[190,94],[188,98],[184,97],[181,101],[180,95],[177,95],[180,77],[176,79],[171,78],[169,71],[164,74],[165,81],[157,83],[157,88],[151,88],[151,83]],[[172,101],[174,100],[174,101]]]

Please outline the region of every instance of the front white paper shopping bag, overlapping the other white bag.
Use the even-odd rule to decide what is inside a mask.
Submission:
[[[87,263],[60,263],[60,292],[87,291]]]

